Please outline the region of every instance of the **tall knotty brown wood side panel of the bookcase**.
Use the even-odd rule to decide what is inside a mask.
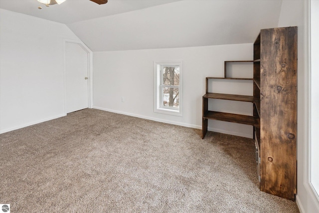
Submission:
[[[260,189],[295,200],[297,27],[260,33]]]

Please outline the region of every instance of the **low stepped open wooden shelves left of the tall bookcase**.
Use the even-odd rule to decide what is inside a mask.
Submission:
[[[227,80],[253,80],[253,78],[231,78],[227,77],[227,63],[229,62],[253,62],[253,61],[225,61],[224,62],[224,77],[206,77],[206,93],[203,95],[203,113],[202,113],[202,139],[207,133],[208,119],[226,121],[239,124],[247,124],[255,126],[259,119],[254,118],[254,116],[215,112],[208,110],[208,99],[222,99],[222,100],[232,100],[232,101],[243,101],[243,102],[254,102],[254,96],[248,95],[234,95],[234,94],[222,94],[222,93],[211,93],[208,92],[209,79],[227,79]]]

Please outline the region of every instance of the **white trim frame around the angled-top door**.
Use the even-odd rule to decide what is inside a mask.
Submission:
[[[66,43],[75,43],[88,54],[88,107],[93,108],[93,52],[82,41],[63,39],[63,81],[64,81],[64,114],[66,115]]]

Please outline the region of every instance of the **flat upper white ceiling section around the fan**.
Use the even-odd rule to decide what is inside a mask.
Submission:
[[[97,4],[90,0],[66,0],[46,7],[37,0],[0,0],[0,8],[60,23],[73,23],[92,18],[143,9],[177,0],[109,0]],[[38,9],[38,6],[42,9]]]

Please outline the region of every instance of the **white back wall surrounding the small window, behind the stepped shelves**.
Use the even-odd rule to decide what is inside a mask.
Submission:
[[[257,37],[257,35],[256,35]],[[223,77],[225,60],[251,60],[253,45],[94,52],[93,107],[151,120],[201,129],[205,77]],[[183,61],[183,116],[153,112],[153,61]],[[251,73],[252,74],[252,66]],[[252,82],[215,82],[214,92],[252,95]],[[216,87],[216,85],[219,85]],[[237,85],[236,87],[233,87]],[[230,89],[232,88],[232,89]],[[212,88],[214,89],[214,88]],[[217,89],[219,91],[217,91]],[[125,102],[121,102],[124,97]],[[252,113],[252,104],[215,101],[215,109]],[[245,107],[242,107],[242,106]],[[252,137],[252,127],[209,120],[209,130]],[[213,129],[212,129],[213,128]]]

